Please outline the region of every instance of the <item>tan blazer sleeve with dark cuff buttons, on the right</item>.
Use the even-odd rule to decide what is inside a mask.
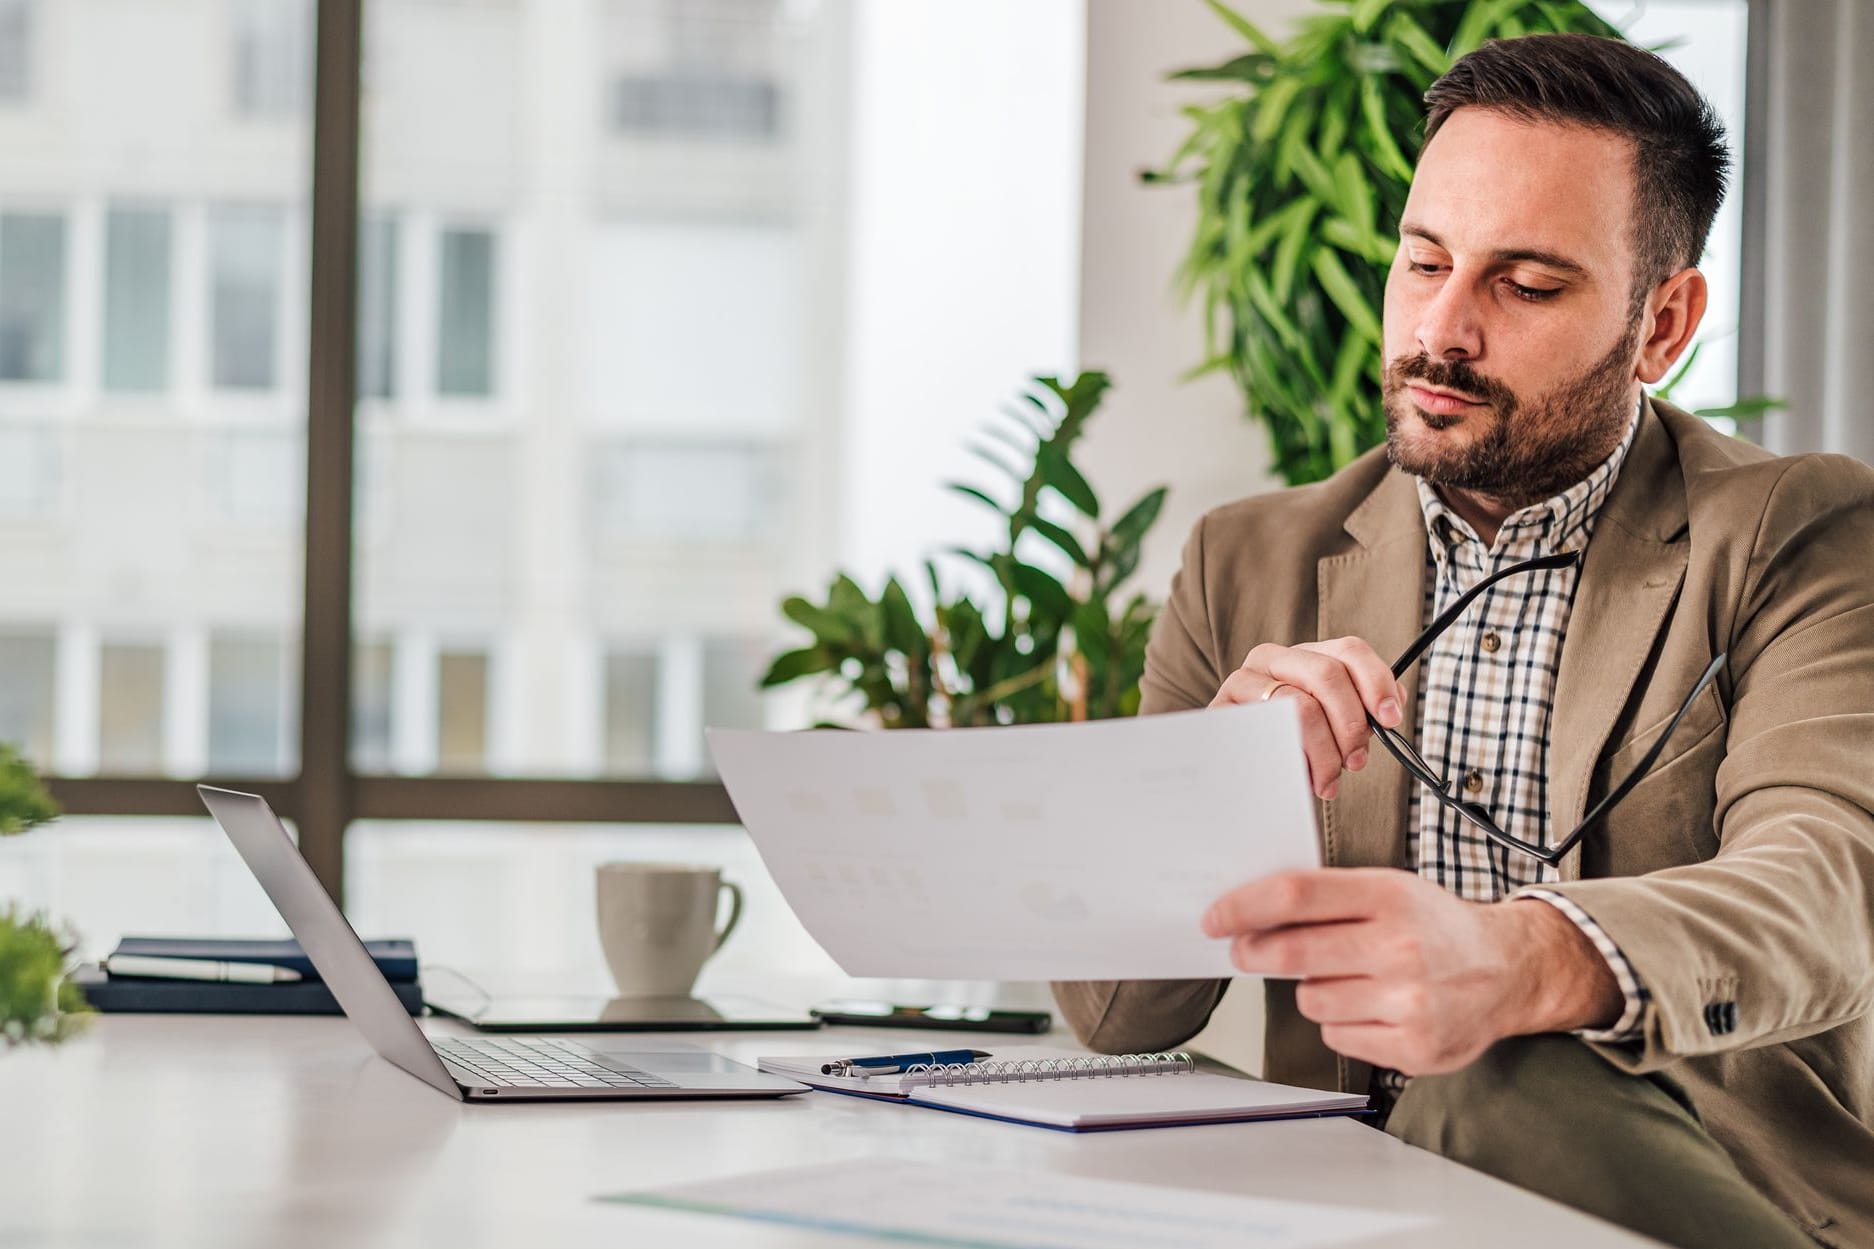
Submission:
[[[1874,473],[1805,456],[1771,488],[1730,640],[1718,851],[1544,883],[1645,983],[1625,1071],[1792,1041],[1874,1009]]]

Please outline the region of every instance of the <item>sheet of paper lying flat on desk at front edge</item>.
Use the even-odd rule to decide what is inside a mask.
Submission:
[[[731,1176],[605,1202],[971,1249],[1325,1249],[1420,1215],[896,1159]]]

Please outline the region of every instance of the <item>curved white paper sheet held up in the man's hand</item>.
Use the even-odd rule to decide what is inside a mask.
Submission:
[[[710,730],[736,814],[849,975],[1231,975],[1226,889],[1319,866],[1287,700],[1091,724]]]

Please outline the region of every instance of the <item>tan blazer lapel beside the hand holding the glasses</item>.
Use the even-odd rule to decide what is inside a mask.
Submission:
[[[1419,636],[1424,617],[1424,512],[1413,478],[1392,469],[1346,521],[1359,542],[1316,566],[1319,638],[1364,638],[1389,664]],[[1406,686],[1406,733],[1419,701],[1419,666]],[[1331,866],[1404,866],[1411,778],[1377,739],[1370,761],[1346,773],[1321,805],[1321,853]]]

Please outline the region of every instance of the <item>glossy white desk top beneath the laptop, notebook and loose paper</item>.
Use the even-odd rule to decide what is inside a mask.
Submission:
[[[425,1028],[461,1030],[442,1020]],[[967,1045],[982,1033],[680,1039],[753,1061],[840,1052],[855,1041],[886,1050],[907,1041]],[[1349,1120],[1074,1136],[834,1093],[470,1106],[379,1060],[347,1020],[322,1016],[116,1015],[58,1050],[0,1050],[6,1247],[864,1245],[879,1241],[592,1198],[804,1163],[864,1166],[885,1155],[1435,1219],[1368,1245],[1653,1243]]]

